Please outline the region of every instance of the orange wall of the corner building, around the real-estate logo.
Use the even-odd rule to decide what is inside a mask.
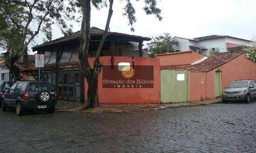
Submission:
[[[129,62],[132,57],[114,57],[114,65]],[[158,58],[134,57],[135,65],[154,65],[154,88],[102,88],[102,71],[99,76],[99,101],[101,104],[160,103],[160,63]],[[111,65],[111,57],[100,57],[104,65]],[[94,58],[89,58],[93,65]],[[85,81],[86,93],[88,90]],[[87,95],[87,94],[85,94]]]

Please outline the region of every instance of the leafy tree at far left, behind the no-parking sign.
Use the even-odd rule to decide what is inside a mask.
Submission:
[[[28,45],[42,32],[52,39],[52,25],[70,33],[67,20],[75,19],[77,2],[73,0],[1,0],[0,2],[0,47],[6,50],[6,64],[14,80],[20,80],[13,64],[24,61]]]

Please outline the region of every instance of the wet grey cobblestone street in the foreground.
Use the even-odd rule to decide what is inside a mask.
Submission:
[[[256,102],[135,114],[0,112],[0,152],[256,152]]]

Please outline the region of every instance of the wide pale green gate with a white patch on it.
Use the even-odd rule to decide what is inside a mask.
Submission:
[[[189,71],[161,70],[161,102],[189,102]]]

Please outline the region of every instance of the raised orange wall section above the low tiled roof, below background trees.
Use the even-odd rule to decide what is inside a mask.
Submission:
[[[196,53],[195,51],[183,51],[175,53],[158,54],[155,56],[160,59],[160,65],[182,65],[191,64],[197,60],[202,59],[204,56]]]

